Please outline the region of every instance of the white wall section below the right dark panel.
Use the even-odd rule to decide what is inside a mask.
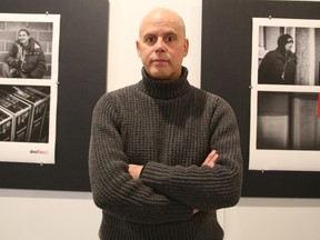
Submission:
[[[224,220],[226,240],[319,240],[320,199],[242,198]]]

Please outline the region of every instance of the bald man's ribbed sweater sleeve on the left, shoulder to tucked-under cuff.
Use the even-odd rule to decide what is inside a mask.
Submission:
[[[182,221],[192,209],[154,191],[128,172],[123,151],[121,120],[112,97],[102,97],[92,117],[89,174],[94,203],[109,214],[132,222]]]

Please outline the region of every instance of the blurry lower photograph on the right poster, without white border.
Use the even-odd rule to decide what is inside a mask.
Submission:
[[[320,150],[314,92],[258,92],[257,149]]]

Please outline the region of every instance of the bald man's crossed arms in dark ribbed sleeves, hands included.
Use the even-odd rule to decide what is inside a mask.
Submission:
[[[119,130],[121,118],[109,103],[104,99],[94,110],[89,154],[93,200],[106,213],[127,221],[156,224],[188,220],[198,211],[231,207],[238,202],[241,152],[232,113],[217,117],[221,122],[223,118],[232,119],[230,124],[216,128],[212,136],[212,149],[219,154],[212,150],[200,166],[170,166],[143,153],[141,157],[151,161],[144,161],[141,173],[142,164],[124,153],[128,147],[123,146],[123,130]],[[148,143],[139,142],[141,144],[143,151]]]

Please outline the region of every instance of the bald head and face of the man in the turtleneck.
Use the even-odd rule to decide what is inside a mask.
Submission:
[[[157,12],[142,21],[137,51],[149,76],[179,79],[188,49],[183,22],[177,16]]]

